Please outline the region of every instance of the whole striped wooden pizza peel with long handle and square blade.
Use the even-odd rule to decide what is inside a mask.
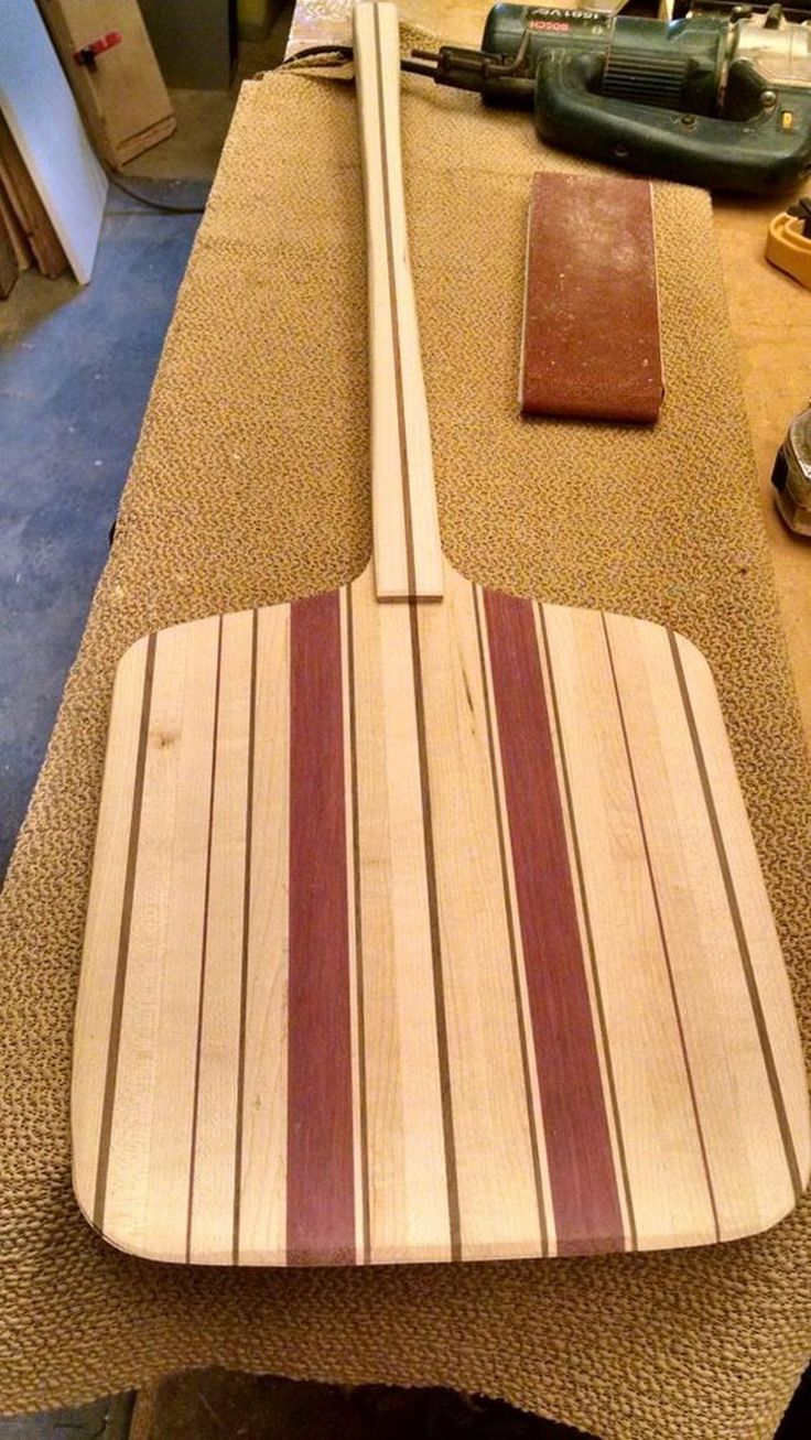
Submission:
[[[216,1264],[749,1234],[810,1126],[714,684],[661,626],[442,562],[396,43],[363,0],[375,566],[120,664],[76,1197],[125,1250]]]

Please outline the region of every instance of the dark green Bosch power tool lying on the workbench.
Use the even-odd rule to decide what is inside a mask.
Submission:
[[[481,50],[403,68],[532,105],[543,140],[709,189],[771,193],[811,171],[811,22],[781,6],[678,20],[497,4]]]

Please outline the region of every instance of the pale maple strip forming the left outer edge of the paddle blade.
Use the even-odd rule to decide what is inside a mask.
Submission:
[[[109,760],[105,766],[95,840],[98,863],[94,864],[88,900],[76,1004],[73,1044],[82,1063],[73,1066],[71,1096],[73,1187],[82,1211],[97,1224],[101,1217],[95,1214],[95,1184],[107,1060],[115,1011],[117,962],[121,949],[148,649],[145,638],[137,641],[121,658],[115,675],[107,740]]]

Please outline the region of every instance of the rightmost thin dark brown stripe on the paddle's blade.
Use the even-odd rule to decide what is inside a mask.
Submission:
[[[772,1092],[772,1102],[775,1106],[775,1115],[781,1132],[781,1139],[785,1151],[785,1162],[788,1166],[788,1174],[791,1176],[791,1185],[794,1189],[795,1201],[802,1198],[802,1178],[799,1175],[799,1165],[797,1164],[797,1152],[794,1149],[794,1138],[791,1133],[791,1125],[788,1113],[785,1109],[785,1100],[779,1083],[778,1067],[775,1063],[775,1056],[772,1051],[772,1043],[769,1038],[769,1028],[766,1025],[766,1017],[763,1015],[763,1005],[761,1002],[761,995],[758,992],[758,981],[755,978],[755,968],[752,965],[752,956],[749,953],[749,942],[746,939],[746,927],[743,924],[743,916],[740,914],[740,906],[738,903],[738,896],[735,893],[735,881],[732,878],[732,871],[729,868],[729,858],[726,854],[726,845],[723,842],[723,834],[720,828],[720,821],[716,811],[716,802],[713,798],[713,789],[710,785],[710,776],[707,773],[707,763],[704,760],[704,752],[702,749],[702,739],[699,736],[699,727],[696,724],[696,716],[693,711],[693,701],[690,700],[690,688],[687,685],[687,677],[684,674],[684,665],[681,664],[681,655],[678,654],[678,639],[674,631],[668,629],[670,638],[670,652],[673,655],[673,664],[676,667],[676,677],[678,680],[678,691],[681,694],[681,703],[684,706],[684,714],[687,717],[687,724],[690,727],[690,739],[693,740],[693,752],[696,755],[696,765],[699,768],[699,776],[702,780],[702,791],[704,795],[704,804],[707,806],[707,816],[710,821],[710,828],[713,832],[714,847],[719,858],[720,873],[723,877],[723,886],[726,890],[726,900],[729,904],[729,913],[732,916],[732,923],[735,927],[735,936],[738,939],[738,949],[740,953],[740,963],[743,966],[743,975],[746,979],[746,989],[749,992],[749,1002],[752,1005],[752,1014],[755,1017],[755,1025],[758,1027],[758,1038],[761,1041],[761,1051],[763,1054],[763,1066],[766,1068],[766,1076],[769,1080],[769,1089]]]

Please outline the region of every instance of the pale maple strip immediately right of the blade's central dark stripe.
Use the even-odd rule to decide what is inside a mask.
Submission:
[[[508,894],[468,580],[419,611],[428,782],[460,1202],[460,1257],[540,1251]]]

